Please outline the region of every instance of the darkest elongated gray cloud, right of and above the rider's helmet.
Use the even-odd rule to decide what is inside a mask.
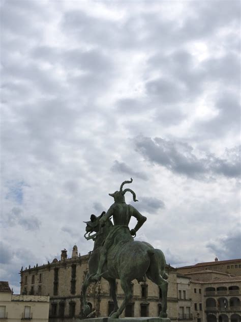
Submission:
[[[136,151],[145,156],[150,162],[188,177],[197,179],[209,173],[222,174],[230,178],[240,175],[238,157],[233,161],[218,158],[211,154],[198,158],[194,154],[191,145],[161,138],[137,137],[135,146]]]

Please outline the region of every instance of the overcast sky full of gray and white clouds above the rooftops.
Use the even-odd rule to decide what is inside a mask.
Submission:
[[[1,279],[15,293],[21,266],[91,250],[82,222],[131,177],[137,238],[168,263],[240,258],[239,1],[2,0],[1,20]]]

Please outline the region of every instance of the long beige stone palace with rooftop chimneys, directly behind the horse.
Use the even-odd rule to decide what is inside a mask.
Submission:
[[[56,258],[48,264],[26,268],[21,271],[21,294],[36,294],[50,296],[49,317],[81,317],[82,316],[82,296],[81,286],[88,272],[89,255],[79,256],[77,247],[73,247],[71,258],[67,258],[67,251],[63,250],[61,260]],[[178,288],[184,290],[189,300],[185,299],[185,314],[189,312],[192,316],[190,300],[190,281],[187,277],[180,277],[176,274],[176,269],[167,266],[169,274],[168,286],[168,312],[172,320],[178,319]],[[186,281],[185,286],[183,280]],[[158,316],[162,305],[162,294],[159,287],[147,280],[145,283],[133,281],[133,298],[126,307],[122,316]],[[118,304],[124,299],[124,293],[117,281]],[[107,316],[113,307],[110,297],[109,284],[104,279],[97,284],[92,284],[87,290],[89,306],[95,311],[96,316]],[[183,302],[183,301],[182,301]],[[188,307],[188,309],[186,309]]]

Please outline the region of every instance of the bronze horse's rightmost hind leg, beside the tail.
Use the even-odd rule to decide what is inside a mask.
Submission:
[[[167,317],[167,287],[168,282],[161,276],[161,272],[163,271],[159,265],[159,260],[157,259],[159,257],[153,255],[150,260],[150,266],[148,271],[146,272],[146,276],[148,279],[150,279],[152,282],[157,284],[161,290],[162,290],[162,310],[159,314],[159,317]],[[166,276],[165,276],[166,278]]]

